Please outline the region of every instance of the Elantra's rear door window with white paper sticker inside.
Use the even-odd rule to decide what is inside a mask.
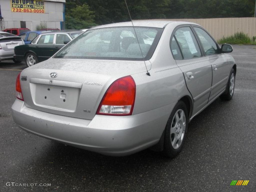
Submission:
[[[184,59],[193,59],[202,56],[190,27],[179,28],[174,35],[178,41]]]

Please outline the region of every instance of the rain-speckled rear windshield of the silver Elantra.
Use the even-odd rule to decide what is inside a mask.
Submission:
[[[135,31],[138,40],[133,27],[88,30],[57,52],[54,58],[148,60],[163,29],[135,27]]]

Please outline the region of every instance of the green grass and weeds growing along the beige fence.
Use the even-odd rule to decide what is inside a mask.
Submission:
[[[242,45],[256,45],[255,37],[250,39],[250,37],[243,32],[235,33],[229,37],[222,37],[219,41],[219,44],[242,44]]]

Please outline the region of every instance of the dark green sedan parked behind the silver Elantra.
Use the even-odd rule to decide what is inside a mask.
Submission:
[[[82,32],[69,31],[40,34],[31,42],[31,44],[15,47],[14,58],[17,61],[25,61],[27,66],[30,67],[38,62],[49,59],[80,33]]]

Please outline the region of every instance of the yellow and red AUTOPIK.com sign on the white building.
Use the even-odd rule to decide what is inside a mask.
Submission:
[[[45,13],[44,1],[10,0],[12,12]]]

